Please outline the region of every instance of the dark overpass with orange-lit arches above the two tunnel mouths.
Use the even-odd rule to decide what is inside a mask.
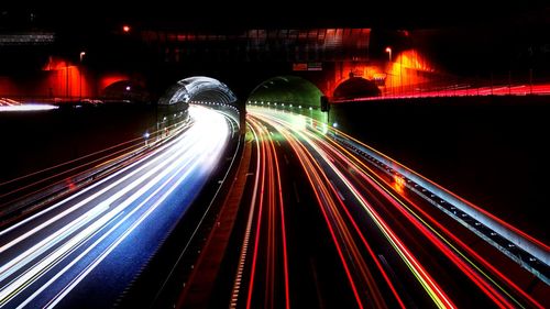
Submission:
[[[438,78],[411,42],[407,31],[366,27],[116,32],[72,55],[43,52],[30,80],[0,78],[0,96],[154,100],[188,76],[211,76],[241,100],[277,76],[298,77],[287,81],[295,88],[307,80],[329,98],[383,96]]]

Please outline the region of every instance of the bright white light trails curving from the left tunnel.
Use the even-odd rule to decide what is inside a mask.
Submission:
[[[145,162],[131,164],[0,232],[0,236],[6,239],[0,246],[0,258],[2,255],[13,256],[0,265],[0,307],[45,277],[46,284],[34,288],[30,297],[15,306],[29,305],[76,265],[82,261],[91,261],[88,265],[79,265],[76,277],[56,293],[56,298],[48,304],[55,306],[141,222],[161,208],[163,201],[189,179],[189,175],[206,177],[212,170],[230,136],[228,121],[223,115],[200,107],[190,107],[189,114],[195,119],[195,124],[174,141],[158,147]],[[84,194],[89,197],[75,201],[75,197]],[[78,213],[77,210],[85,211]],[[135,218],[139,210],[143,210],[143,213]],[[52,218],[42,222],[42,216],[52,211],[55,211],[51,213]],[[129,224],[123,224],[124,222]],[[125,225],[124,230],[120,230],[120,227]],[[111,228],[106,230],[108,227]],[[114,232],[120,234],[107,244],[107,250],[94,252],[101,242],[112,239],[108,235]],[[77,257],[73,256],[96,238]],[[10,254],[7,255],[8,253]],[[89,254],[94,254],[92,258],[82,258]],[[67,261],[68,258],[70,260]],[[63,269],[52,274],[51,271],[64,261],[68,263]]]

